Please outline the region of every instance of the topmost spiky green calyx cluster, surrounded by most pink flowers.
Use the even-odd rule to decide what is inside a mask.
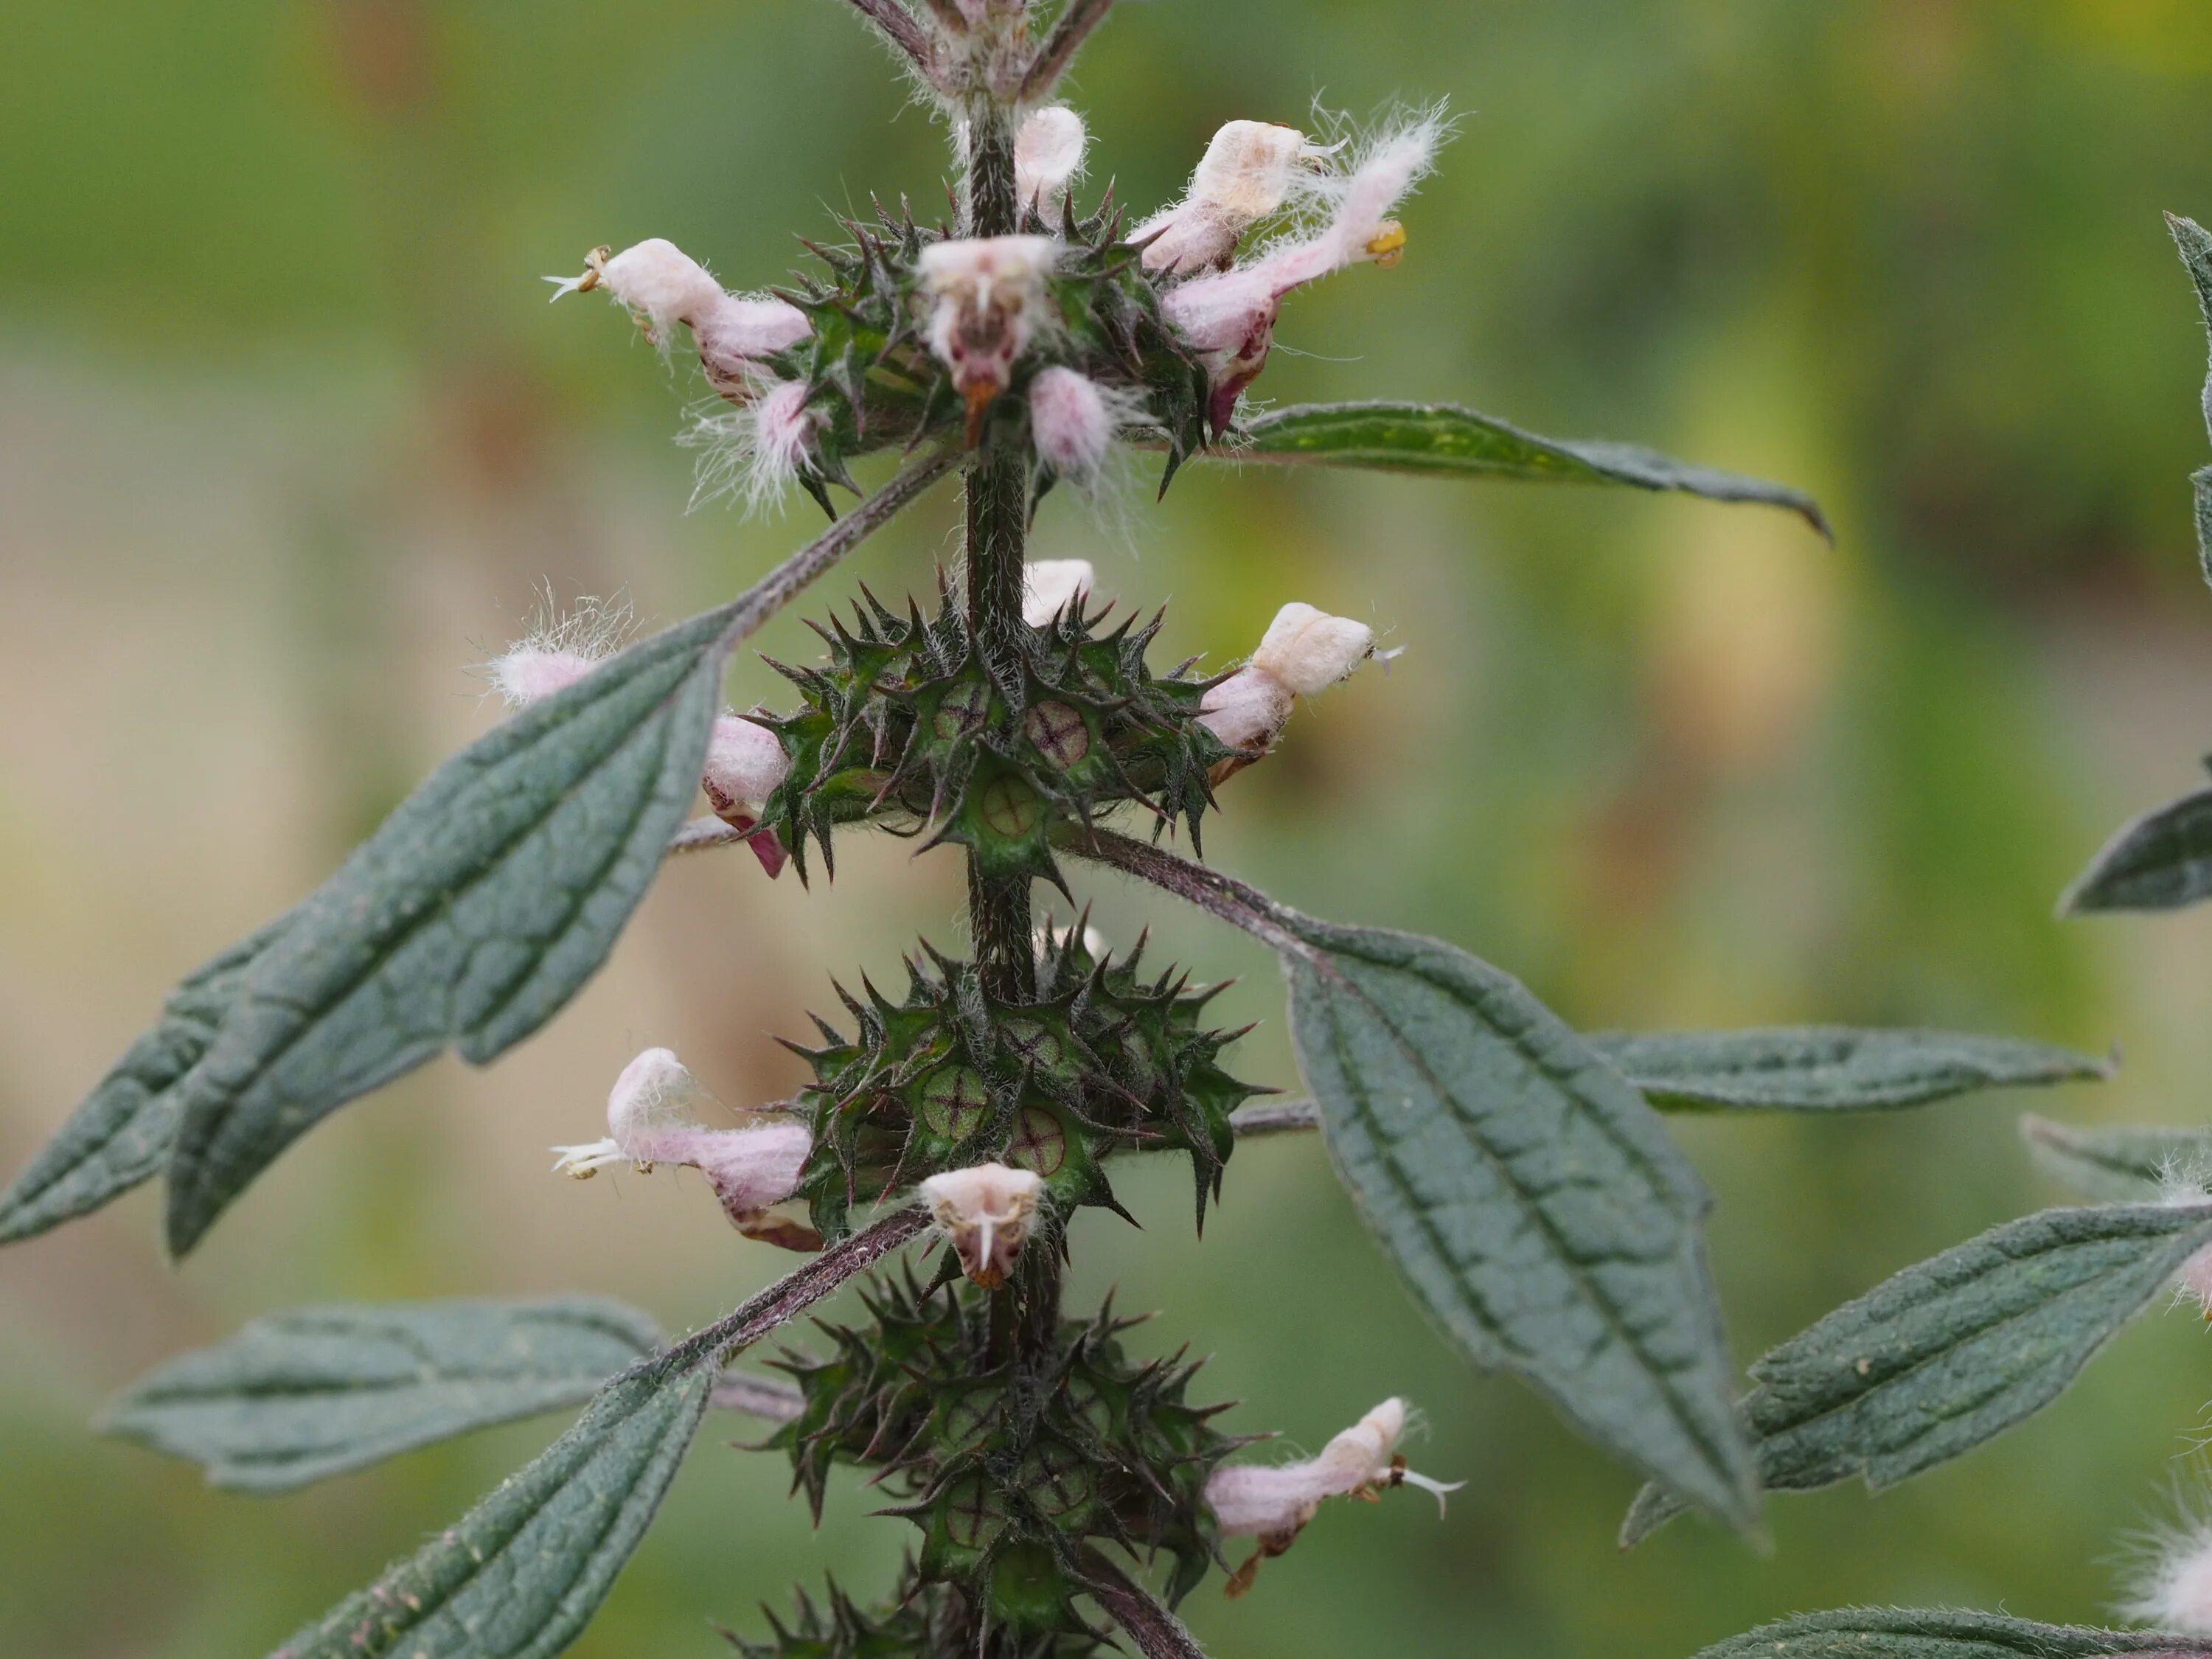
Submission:
[[[807,387],[816,434],[801,482],[823,511],[832,511],[827,484],[858,493],[847,471],[854,456],[914,449],[967,418],[951,374],[929,352],[929,296],[916,276],[922,248],[949,232],[918,226],[905,201],[898,217],[876,204],[872,221],[841,223],[852,241],[805,243],[821,270],[779,290],[814,332],[765,358],[781,378]],[[1057,237],[1066,252],[1046,279],[1044,327],[987,411],[978,440],[1031,453],[1035,495],[1051,489],[1053,471],[1029,442],[1026,392],[1040,369],[1064,365],[1144,398],[1148,420],[1166,438],[1166,491],[1177,467],[1206,445],[1208,378],[1161,319],[1137,250],[1121,241],[1119,210],[1110,195],[1088,219],[1075,219],[1062,204],[1057,221],[1029,215],[1024,230]],[[748,396],[745,387],[723,389]]]

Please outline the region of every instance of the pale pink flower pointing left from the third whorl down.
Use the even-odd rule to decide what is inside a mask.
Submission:
[[[776,1223],[768,1210],[799,1190],[814,1135],[805,1124],[703,1128],[692,1104],[706,1091],[670,1048],[646,1048],[606,1097],[606,1139],[555,1146],[553,1170],[580,1181],[615,1164],[650,1172],[681,1164],[706,1175],[730,1221],[748,1237],[818,1248],[807,1230]]]

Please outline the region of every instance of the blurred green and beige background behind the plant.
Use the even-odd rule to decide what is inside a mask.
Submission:
[[[2037,1099],[2203,1119],[2212,916],[2062,925],[2121,816],[2212,745],[2212,595],[2183,476],[2203,336],[2159,223],[2212,212],[2201,0],[1128,0],[1082,62],[1093,190],[1166,199],[1228,117],[1449,97],[1460,139],[1394,272],[1285,312],[1261,392],[1462,398],[1820,493],[1781,513],[1628,493],[1192,469],[1046,504],[1037,555],[1172,599],[1166,646],[1248,650],[1276,604],[1405,657],[1298,714],[1208,849],[1332,918],[1442,933],[1584,1026],[1938,1022],[2126,1051]],[[86,0],[0,9],[0,1164],[13,1168],[219,945],[314,885],[491,721],[467,675],[542,584],[644,619],[812,533],[686,515],[703,392],[542,272],[666,234],[732,285],[867,192],[942,201],[942,135],[832,0]],[[1292,354],[1292,347],[1296,354]],[[940,493],[832,582],[927,584]],[[803,657],[799,615],[759,641]],[[748,657],[732,697],[774,699]],[[1272,967],[1086,880],[1261,1020]],[[951,854],[852,841],[834,887],[672,867],[608,971],[487,1073],[336,1117],[181,1270],[139,1194],[0,1254],[9,1655],[254,1655],[409,1551],[551,1422],[294,1500],[201,1489],[86,1418],[243,1318],[358,1296],[611,1292],[672,1329],[787,1259],[697,1183],[571,1186],[641,1044],[728,1102],[827,975],[956,938]],[[1741,1358],[1893,1267],[2053,1201],[2022,1099],[1851,1124],[1692,1124]],[[1237,1429],[1314,1449],[1425,1407],[1425,1498],[1334,1506],[1225,1604],[1223,1659],[1688,1655],[1765,1617],[1953,1601],[2097,1619],[2124,1535],[2194,1486],[2205,1332],[2132,1329],[2057,1409],[1882,1498],[1774,1504],[1761,1557],[1699,1522],[1628,1557],[1632,1482],[1471,1376],[1367,1245],[1318,1144],[1239,1155],[1077,1228],[1077,1292],[1214,1352]],[[905,1544],[781,1460],[701,1440],[575,1652],[710,1655],[710,1619]]]

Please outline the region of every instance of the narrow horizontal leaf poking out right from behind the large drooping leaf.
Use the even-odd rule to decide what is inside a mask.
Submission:
[[[2110,1075],[2108,1062],[2070,1048],[1951,1031],[1632,1031],[1590,1046],[1677,1110],[1865,1113]]]

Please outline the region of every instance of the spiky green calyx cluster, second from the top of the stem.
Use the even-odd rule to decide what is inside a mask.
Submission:
[[[929,619],[911,599],[900,617],[865,595],[852,624],[816,624],[825,664],[774,664],[803,708],[754,714],[792,757],[761,827],[801,878],[810,838],[830,863],[832,830],[865,818],[960,843],[987,874],[1040,876],[1062,891],[1057,825],[1135,803],[1164,827],[1188,825],[1197,845],[1210,774],[1237,754],[1199,723],[1214,681],[1190,664],[1168,675],[1146,666],[1161,615],[1104,624],[1104,611],[1071,606],[1048,628],[1020,624],[1004,657],[978,650],[949,593]]]

